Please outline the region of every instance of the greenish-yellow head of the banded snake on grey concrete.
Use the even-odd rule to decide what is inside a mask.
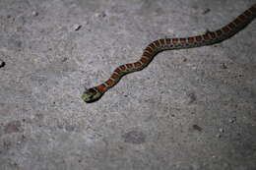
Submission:
[[[81,98],[87,102],[87,103],[91,103],[94,102],[96,100],[98,100],[101,97],[101,93],[96,90],[95,87],[89,88],[87,89],[81,96]]]

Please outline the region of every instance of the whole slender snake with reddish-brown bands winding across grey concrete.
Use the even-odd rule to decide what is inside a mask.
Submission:
[[[206,31],[203,34],[188,36],[188,37],[174,37],[161,38],[150,43],[144,50],[143,54],[135,63],[128,63],[117,67],[110,78],[104,83],[86,89],[81,98],[87,102],[95,102],[112,86],[116,85],[123,76],[141,71],[146,68],[154,57],[165,50],[186,49],[193,47],[200,47],[206,45],[213,45],[228,39],[236,34],[241,29],[250,24],[256,17],[256,4],[244,11],[241,15],[236,17],[231,23],[219,28],[215,31]]]

